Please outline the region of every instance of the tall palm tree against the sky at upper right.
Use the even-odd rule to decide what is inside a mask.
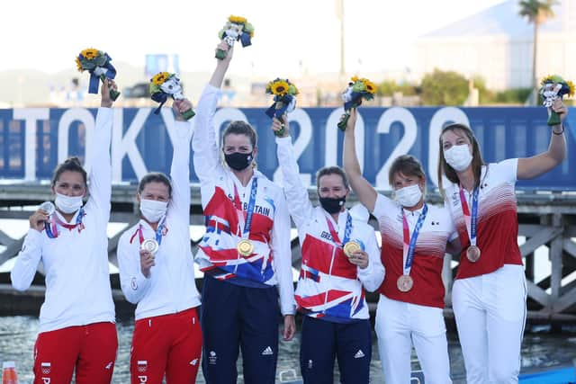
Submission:
[[[534,49],[532,53],[532,93],[531,104],[536,104],[538,100],[538,79],[536,78],[536,58],[538,52],[538,29],[547,19],[554,17],[552,7],[558,4],[556,0],[520,0],[520,16],[526,17],[528,22],[534,24]]]

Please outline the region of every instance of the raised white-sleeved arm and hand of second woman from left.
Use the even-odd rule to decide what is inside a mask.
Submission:
[[[188,228],[190,225],[190,139],[193,130],[190,122],[185,121],[182,112],[192,108],[188,100],[176,100],[172,104],[175,112],[174,155],[170,177],[172,178],[172,199],[168,207],[170,215]]]

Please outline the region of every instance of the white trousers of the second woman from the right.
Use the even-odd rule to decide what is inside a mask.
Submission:
[[[376,335],[386,384],[410,383],[412,344],[427,384],[451,384],[446,324],[441,308],[419,306],[380,295]]]

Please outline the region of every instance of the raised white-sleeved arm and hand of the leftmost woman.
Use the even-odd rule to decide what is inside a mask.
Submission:
[[[113,80],[106,79],[100,91],[102,100],[96,114],[94,142],[86,143],[86,147],[92,146],[91,157],[88,161],[91,165],[90,174],[88,174],[90,198],[86,207],[98,212],[103,226],[106,226],[108,219],[110,219],[110,201],[112,198],[110,142],[112,139],[113,111],[110,88],[117,89],[116,84]]]

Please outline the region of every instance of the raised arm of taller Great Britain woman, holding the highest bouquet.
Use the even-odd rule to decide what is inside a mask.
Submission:
[[[220,43],[219,49],[228,50],[228,44]],[[233,49],[222,60],[217,60],[216,68],[212,73],[210,83],[206,85],[198,107],[196,108],[195,131],[192,140],[194,171],[201,183],[210,182],[216,177],[220,166],[218,152],[218,138],[214,130],[214,113],[220,97],[220,85],[224,80],[229,62],[233,56]]]

